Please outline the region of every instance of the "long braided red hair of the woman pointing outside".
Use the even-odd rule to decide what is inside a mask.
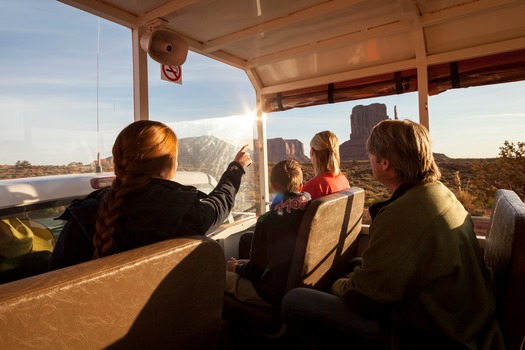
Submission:
[[[171,179],[177,168],[177,136],[167,125],[139,120],[125,127],[113,145],[115,180],[98,209],[94,258],[113,253],[113,233],[126,196],[153,178]],[[166,173],[168,172],[168,173]]]

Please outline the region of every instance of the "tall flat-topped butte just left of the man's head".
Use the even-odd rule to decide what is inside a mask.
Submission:
[[[350,140],[339,146],[341,160],[368,159],[366,140],[374,125],[389,119],[384,103],[372,103],[368,106],[358,105],[352,108],[350,115]]]

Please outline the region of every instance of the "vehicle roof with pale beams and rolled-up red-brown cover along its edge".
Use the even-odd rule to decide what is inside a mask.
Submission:
[[[264,112],[525,79],[522,0],[59,1],[139,32],[162,23],[246,71]]]

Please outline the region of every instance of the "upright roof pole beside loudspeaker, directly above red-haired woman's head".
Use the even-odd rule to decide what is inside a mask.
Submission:
[[[140,48],[140,37],[144,32],[142,27],[131,29],[133,55],[133,101],[134,120],[149,119],[148,104],[148,55]]]

